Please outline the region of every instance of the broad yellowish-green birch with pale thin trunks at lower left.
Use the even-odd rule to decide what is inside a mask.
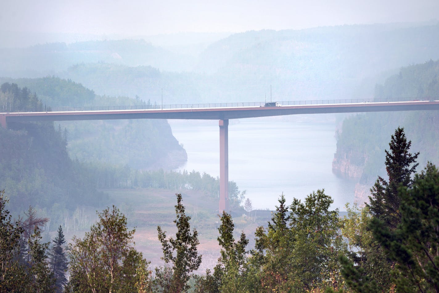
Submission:
[[[99,222],[69,244],[68,292],[133,292],[149,288],[148,262],[133,248],[126,217],[115,206],[98,213]]]

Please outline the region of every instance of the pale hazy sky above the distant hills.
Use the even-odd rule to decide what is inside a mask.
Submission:
[[[0,30],[129,36],[419,22],[438,15],[439,0],[6,0]]]

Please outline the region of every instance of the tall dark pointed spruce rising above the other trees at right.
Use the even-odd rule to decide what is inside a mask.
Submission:
[[[411,186],[411,176],[416,171],[416,159],[419,153],[409,152],[411,141],[407,142],[404,128],[397,128],[389,143],[390,150],[385,150],[385,166],[389,181],[378,176],[374,187],[371,188],[370,203],[367,204],[371,214],[383,221],[391,229],[396,229],[401,214],[399,211],[400,185]]]

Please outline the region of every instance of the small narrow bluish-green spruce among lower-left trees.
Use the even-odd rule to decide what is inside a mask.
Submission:
[[[49,268],[55,278],[55,286],[57,292],[62,292],[67,279],[65,278],[65,271],[68,268],[67,258],[65,257],[63,244],[65,243],[64,233],[61,225],[58,227],[58,235],[52,240],[54,245],[50,248],[47,255],[49,256]]]

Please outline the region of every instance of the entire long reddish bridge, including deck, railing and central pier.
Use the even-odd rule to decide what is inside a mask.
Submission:
[[[435,97],[434,99],[439,99]],[[341,99],[265,103],[212,103],[192,105],[61,107],[50,112],[0,113],[0,124],[26,121],[74,121],[108,119],[199,119],[219,121],[219,212],[228,204],[228,125],[229,119],[268,117],[294,114],[359,113],[385,111],[439,110],[439,100]],[[180,106],[180,107],[178,107]],[[143,109],[146,108],[146,109]],[[155,109],[149,109],[155,108]]]

